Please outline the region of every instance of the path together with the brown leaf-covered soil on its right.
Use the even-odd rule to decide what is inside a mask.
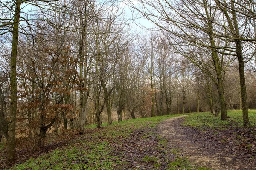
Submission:
[[[170,148],[180,150],[192,162],[214,170],[256,170],[256,140],[253,128],[230,127],[204,130],[181,125],[185,116],[158,124],[159,135]]]

